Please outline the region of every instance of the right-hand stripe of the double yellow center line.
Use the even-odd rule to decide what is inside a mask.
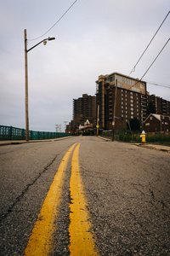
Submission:
[[[75,148],[71,162],[71,224],[69,226],[71,255],[99,255],[94,242],[92,224],[89,220],[87,200],[84,195],[84,186],[80,174],[78,160],[80,143]]]

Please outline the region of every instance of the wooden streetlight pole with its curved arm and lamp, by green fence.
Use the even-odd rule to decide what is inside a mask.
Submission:
[[[27,49],[27,38],[26,38],[26,29],[25,33],[25,72],[26,72],[26,141],[29,142],[29,118],[28,118],[28,61],[27,61],[27,53],[37,47],[39,44],[47,44],[47,41],[55,40],[55,38],[45,38],[38,44],[31,47],[31,49]]]

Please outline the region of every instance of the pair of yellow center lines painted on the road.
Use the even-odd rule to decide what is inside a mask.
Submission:
[[[65,170],[71,153],[76,147],[75,143],[65,154],[59,165],[58,172],[43,202],[24,255],[48,255],[53,252],[53,234],[56,226],[54,221],[59,215],[61,195],[64,184]],[[71,212],[70,212],[70,245],[71,255],[99,255],[94,242],[92,224],[89,220],[87,200],[79,166],[79,147],[75,148],[71,161]]]

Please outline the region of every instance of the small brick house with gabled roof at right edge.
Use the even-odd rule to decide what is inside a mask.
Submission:
[[[170,131],[170,117],[150,113],[147,119],[144,120],[143,129],[145,132],[156,132],[156,131]]]

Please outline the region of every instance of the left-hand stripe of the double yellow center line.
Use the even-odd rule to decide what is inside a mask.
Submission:
[[[76,144],[77,143],[67,151],[59,165],[58,172],[55,174],[54,181],[43,202],[41,212],[39,213],[37,223],[32,230],[24,255],[43,256],[53,252],[54,220],[59,213],[65,169],[71,152]]]

